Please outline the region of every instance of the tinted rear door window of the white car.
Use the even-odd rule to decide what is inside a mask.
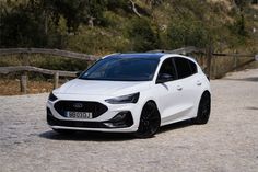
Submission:
[[[178,79],[191,76],[191,68],[188,59],[176,57],[174,61],[176,64]]]

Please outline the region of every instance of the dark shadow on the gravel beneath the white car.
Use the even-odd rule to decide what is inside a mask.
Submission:
[[[188,127],[191,125],[192,125],[191,121],[174,123],[174,124],[161,127],[156,135],[160,135],[168,130],[175,130],[175,129]],[[71,135],[60,135],[54,130],[47,130],[39,134],[38,136],[42,138],[51,139],[51,140],[73,140],[73,141],[126,141],[126,140],[138,139],[131,134],[101,133],[101,131],[75,131]]]

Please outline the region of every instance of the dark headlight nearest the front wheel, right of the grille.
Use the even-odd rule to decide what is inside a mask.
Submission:
[[[137,103],[139,96],[140,96],[140,93],[138,92],[134,94],[107,99],[107,100],[105,100],[105,102],[110,103],[110,104]]]

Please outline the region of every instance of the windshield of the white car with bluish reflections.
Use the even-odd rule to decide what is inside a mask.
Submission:
[[[159,59],[104,58],[87,69],[80,79],[110,81],[150,81]]]

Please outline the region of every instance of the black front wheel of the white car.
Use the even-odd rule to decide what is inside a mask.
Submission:
[[[141,113],[138,130],[134,133],[137,138],[150,138],[156,134],[161,125],[161,116],[155,103],[148,102]]]

